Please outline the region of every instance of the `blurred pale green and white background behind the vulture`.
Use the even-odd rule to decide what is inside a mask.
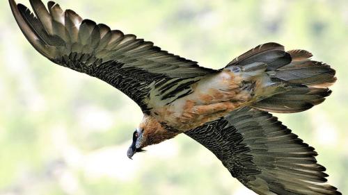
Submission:
[[[306,112],[277,116],[315,147],[329,183],[348,193],[348,1],[57,3],[205,67],[224,67],[265,42],[313,52],[337,71],[333,94]],[[0,6],[1,195],[253,194],[185,135],[129,160],[142,119],[137,105],[42,57],[19,31],[8,1]]]

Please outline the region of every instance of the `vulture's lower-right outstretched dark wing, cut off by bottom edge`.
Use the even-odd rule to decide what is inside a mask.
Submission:
[[[341,194],[326,184],[314,148],[268,112],[242,108],[186,134],[258,194]]]

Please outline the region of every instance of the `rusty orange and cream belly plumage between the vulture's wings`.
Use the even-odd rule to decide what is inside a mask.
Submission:
[[[181,132],[201,126],[251,101],[251,93],[243,90],[242,80],[242,76],[229,70],[212,74],[193,84],[192,94],[154,108],[153,116]]]

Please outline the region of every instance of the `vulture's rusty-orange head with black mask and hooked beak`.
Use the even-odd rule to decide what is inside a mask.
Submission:
[[[166,139],[171,139],[179,133],[173,130],[165,129],[155,117],[145,115],[143,121],[133,133],[132,144],[127,151],[128,158],[132,159],[133,155],[143,152],[143,148],[152,144],[159,144]]]

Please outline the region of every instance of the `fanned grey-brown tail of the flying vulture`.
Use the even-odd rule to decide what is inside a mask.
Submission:
[[[331,94],[327,87],[336,80],[334,69],[310,60],[311,57],[312,53],[305,50],[285,52],[280,44],[268,43],[232,60],[226,68],[242,67],[246,78],[260,83],[255,87],[253,108],[269,112],[301,112],[322,103]],[[259,68],[255,71],[255,68],[246,67]]]

